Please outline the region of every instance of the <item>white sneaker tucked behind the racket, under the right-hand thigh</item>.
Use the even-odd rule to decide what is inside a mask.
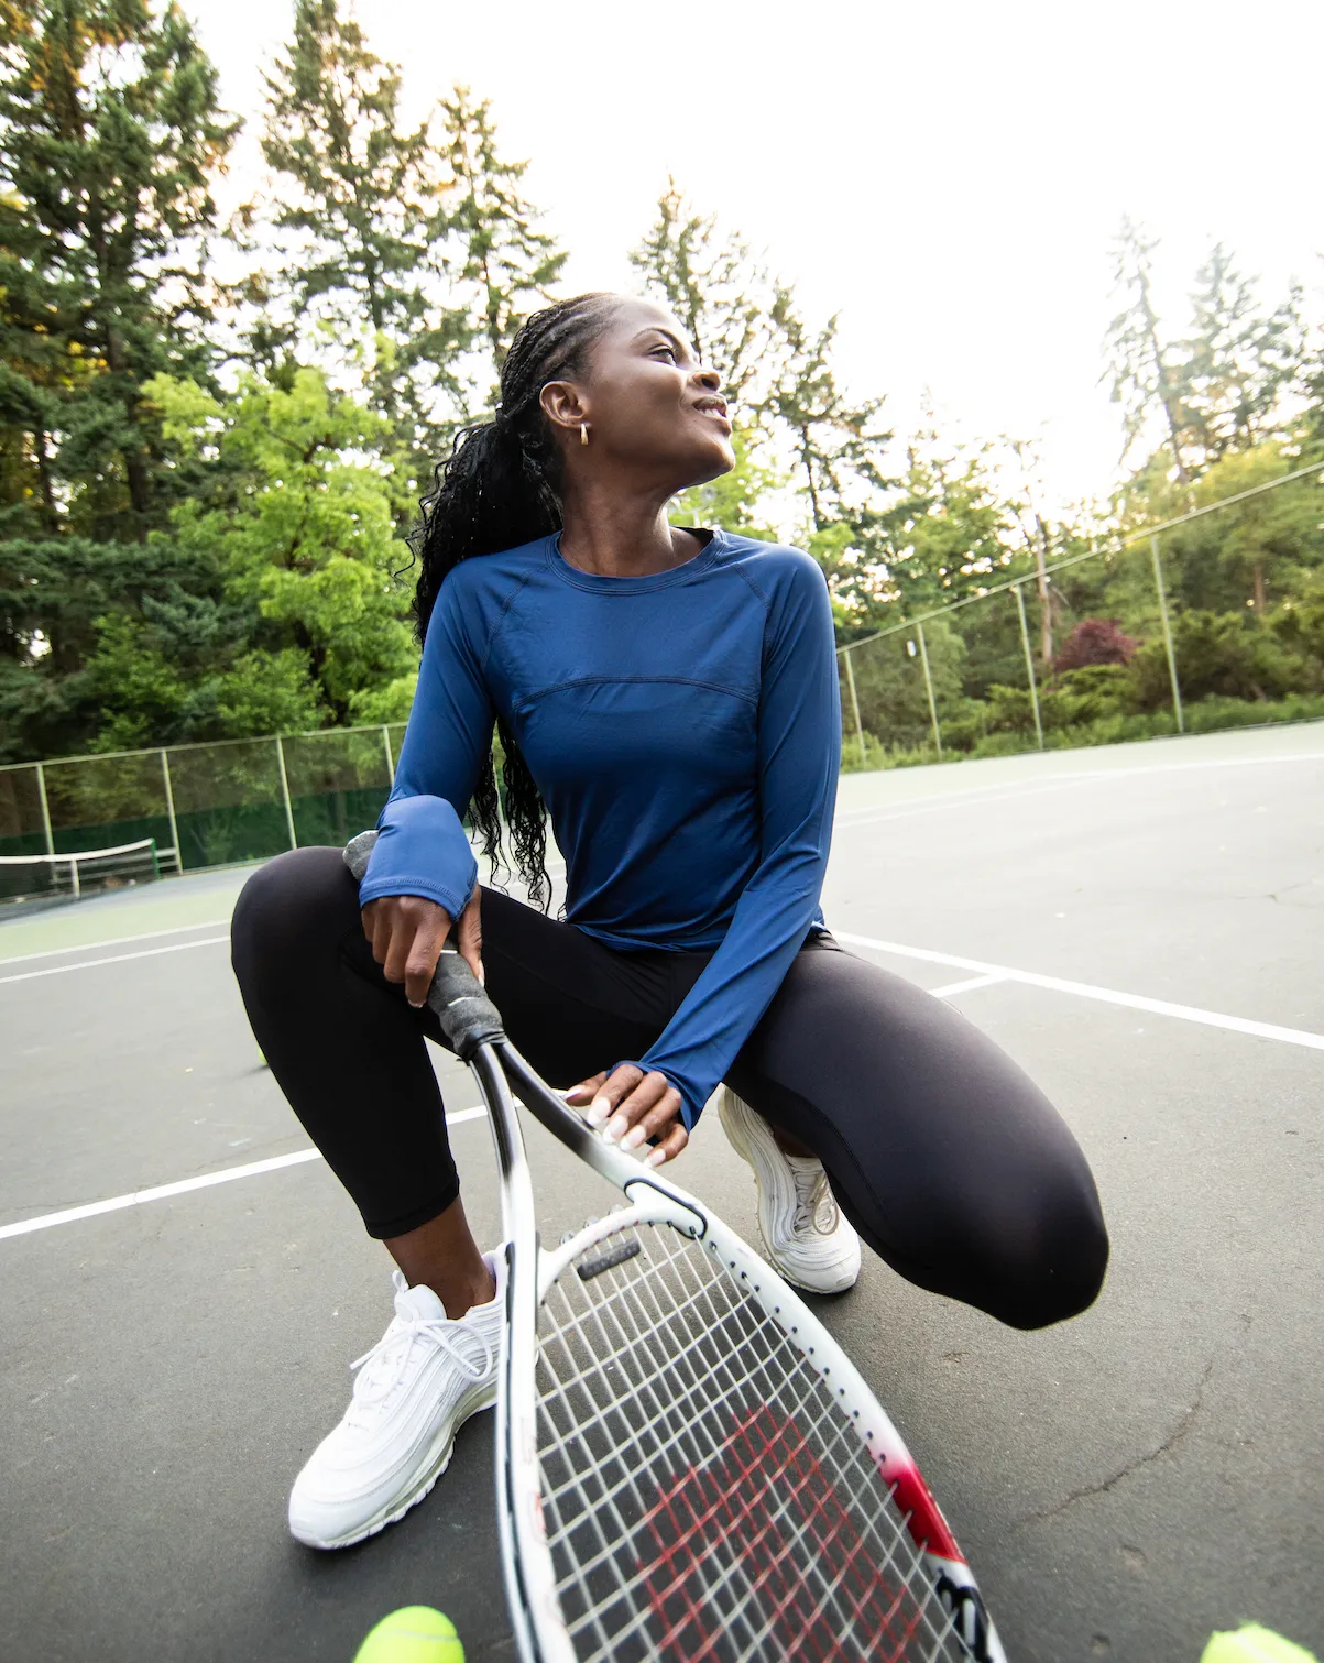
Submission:
[[[785,1154],[772,1128],[725,1086],[719,1103],[732,1149],[753,1167],[758,1234],[768,1259],[792,1287],[840,1294],[860,1276],[860,1237],[842,1217],[823,1162]]]

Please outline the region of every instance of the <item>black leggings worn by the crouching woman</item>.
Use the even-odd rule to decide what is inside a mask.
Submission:
[[[709,958],[614,951],[482,895],[487,991],[554,1086],[642,1056]],[[441,1033],[374,963],[339,850],[296,850],[248,880],[233,960],[271,1071],[369,1234],[436,1217],[459,1194],[424,1044]],[[815,1151],[847,1217],[907,1281],[1021,1329],[1098,1294],[1108,1236],[1084,1156],[941,999],[812,936],[727,1081]]]

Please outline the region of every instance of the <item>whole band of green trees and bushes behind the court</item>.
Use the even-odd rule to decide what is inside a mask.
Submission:
[[[0,758],[403,722],[401,532],[562,276],[527,165],[466,88],[404,121],[401,73],[349,8],[296,0],[266,78],[271,178],[225,233],[249,274],[226,286],[213,180],[236,123],[183,12],[0,0]],[[1164,732],[1158,526],[1191,725],[1324,695],[1324,492],[1277,484],[1324,466],[1324,343],[1221,244],[1174,329],[1153,251],[1123,228],[1106,341],[1136,466],[1106,512],[1048,524],[1026,446],[931,419],[895,442],[847,384],[837,319],[669,183],[630,259],[739,419],[737,467],[675,519],[820,562],[860,644],[857,763],[936,755],[898,619],[926,617],[945,755],[1033,740],[1026,635],[1046,743]],[[986,595],[1008,579],[1026,635],[1015,597]],[[1139,642],[1129,662],[1055,674],[1103,619]],[[853,725],[845,665],[843,707]],[[266,748],[249,763],[269,770]],[[200,846],[248,846],[218,825]]]

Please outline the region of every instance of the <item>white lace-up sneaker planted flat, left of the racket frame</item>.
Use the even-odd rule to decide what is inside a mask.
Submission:
[[[496,1294],[459,1320],[431,1287],[394,1274],[396,1315],[358,1362],[344,1419],[313,1450],[289,1493],[289,1530],[311,1548],[346,1548],[421,1502],[451,1460],[456,1430],[496,1402],[506,1320],[506,1254],[487,1254]]]

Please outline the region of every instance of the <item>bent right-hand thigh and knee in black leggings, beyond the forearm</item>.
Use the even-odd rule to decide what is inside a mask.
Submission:
[[[729,1081],[818,1154],[908,1281],[1016,1327],[1098,1294],[1108,1237],[1076,1139],[1028,1074],[913,983],[817,941]]]

